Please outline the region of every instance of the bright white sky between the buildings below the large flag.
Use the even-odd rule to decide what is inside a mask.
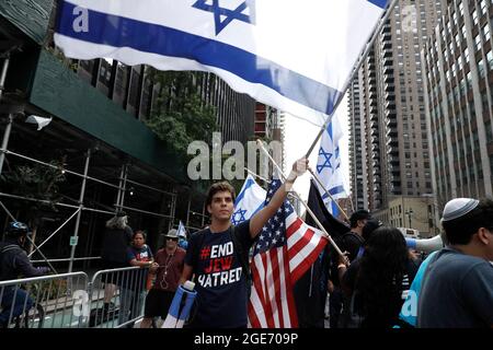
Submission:
[[[340,121],[341,128],[344,132],[340,141],[341,148],[341,168],[344,174],[344,188],[349,194],[349,152],[348,152],[348,119],[347,119],[347,94],[344,95],[343,101],[334,115],[334,118]],[[319,122],[319,121],[317,121]],[[316,124],[317,124],[316,122]],[[310,121],[286,115],[285,117],[285,160],[286,160],[286,175],[289,174],[293,163],[300,159],[312,144],[317,135],[319,133],[321,124],[313,125]],[[314,171],[317,165],[318,153],[320,149],[320,141],[314,147],[309,156],[310,167]],[[294,189],[301,196],[303,200],[308,199],[310,190],[310,173],[299,177],[294,186]]]

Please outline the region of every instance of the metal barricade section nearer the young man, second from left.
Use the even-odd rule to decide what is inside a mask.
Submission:
[[[133,327],[144,315],[148,268],[127,267],[98,271],[88,287],[89,327]]]

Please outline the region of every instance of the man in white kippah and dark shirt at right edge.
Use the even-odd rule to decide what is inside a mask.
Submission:
[[[493,327],[493,201],[452,199],[442,225],[448,246],[423,277],[417,327]]]

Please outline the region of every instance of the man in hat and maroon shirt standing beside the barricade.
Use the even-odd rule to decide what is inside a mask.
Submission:
[[[182,276],[186,253],[177,245],[177,231],[172,229],[164,237],[164,247],[156,254],[156,261],[149,271],[156,275],[156,281],[146,296],[140,328],[149,328],[154,317],[167,318]]]

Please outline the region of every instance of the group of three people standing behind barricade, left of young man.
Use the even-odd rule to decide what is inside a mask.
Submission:
[[[140,327],[149,328],[158,325],[152,323],[154,317],[164,319],[168,315],[183,270],[185,250],[181,246],[186,247],[186,237],[179,236],[175,229],[170,230],[163,235],[164,243],[154,256],[146,244],[146,233],[141,230],[133,233],[127,220],[126,213],[121,212],[106,222],[102,246],[103,267],[146,269],[126,271],[119,278],[118,273],[104,275],[105,294],[101,318],[104,319],[104,315],[114,311],[112,300],[119,288],[118,324],[134,327],[131,320],[140,315],[144,306]]]

